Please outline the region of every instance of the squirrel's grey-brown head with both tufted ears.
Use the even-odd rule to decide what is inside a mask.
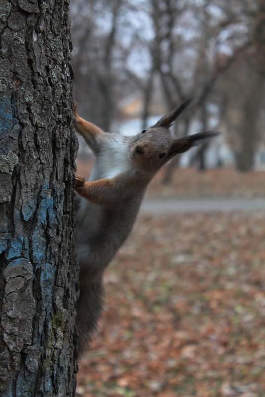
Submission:
[[[155,125],[144,129],[134,137],[130,147],[130,157],[137,169],[156,172],[172,157],[219,134],[216,131],[206,131],[182,138],[172,136],[170,126],[191,101],[191,99],[185,101],[177,109],[161,117]]]

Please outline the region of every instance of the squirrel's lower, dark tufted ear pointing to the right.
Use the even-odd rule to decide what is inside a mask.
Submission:
[[[176,139],[171,146],[167,157],[170,159],[177,154],[187,152],[187,150],[191,149],[192,147],[198,146],[204,143],[206,140],[214,138],[218,135],[220,135],[220,132],[218,131],[206,131]]]

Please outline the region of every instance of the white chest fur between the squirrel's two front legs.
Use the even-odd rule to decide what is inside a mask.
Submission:
[[[109,139],[104,143],[102,151],[96,159],[89,180],[114,178],[122,172],[133,170],[133,168],[129,158],[128,138],[122,135],[110,134]]]

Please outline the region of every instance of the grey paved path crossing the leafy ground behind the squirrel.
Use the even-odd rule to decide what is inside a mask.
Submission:
[[[146,199],[141,206],[145,213],[265,211],[265,199],[194,198],[194,199]]]

